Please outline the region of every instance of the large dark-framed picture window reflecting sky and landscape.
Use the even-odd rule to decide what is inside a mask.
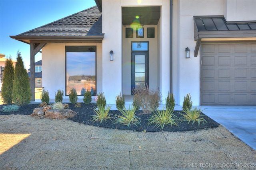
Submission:
[[[70,88],[96,95],[96,46],[66,46],[66,96]]]

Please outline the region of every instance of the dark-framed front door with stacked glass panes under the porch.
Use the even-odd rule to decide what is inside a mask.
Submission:
[[[132,52],[132,89],[146,85],[148,85],[148,52]]]

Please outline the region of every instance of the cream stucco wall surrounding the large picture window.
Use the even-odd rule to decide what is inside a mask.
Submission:
[[[66,89],[66,46],[88,46],[94,45],[96,50],[96,76],[97,92],[102,91],[102,44],[101,43],[47,43],[42,48],[42,87],[49,92],[50,99],[55,98],[58,89]],[[68,96],[64,98],[68,99]],[[83,96],[78,96],[83,98]]]

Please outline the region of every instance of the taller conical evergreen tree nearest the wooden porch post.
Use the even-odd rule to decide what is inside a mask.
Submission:
[[[17,63],[14,70],[12,100],[17,105],[30,103],[31,92],[28,73],[24,68],[21,53],[17,52]]]

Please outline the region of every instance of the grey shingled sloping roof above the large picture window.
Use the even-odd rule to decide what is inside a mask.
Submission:
[[[30,43],[30,41],[74,41],[78,39],[103,39],[102,13],[97,6],[93,6],[76,14],[48,23],[41,27],[26,31],[13,39]],[[74,39],[75,38],[75,39]]]

